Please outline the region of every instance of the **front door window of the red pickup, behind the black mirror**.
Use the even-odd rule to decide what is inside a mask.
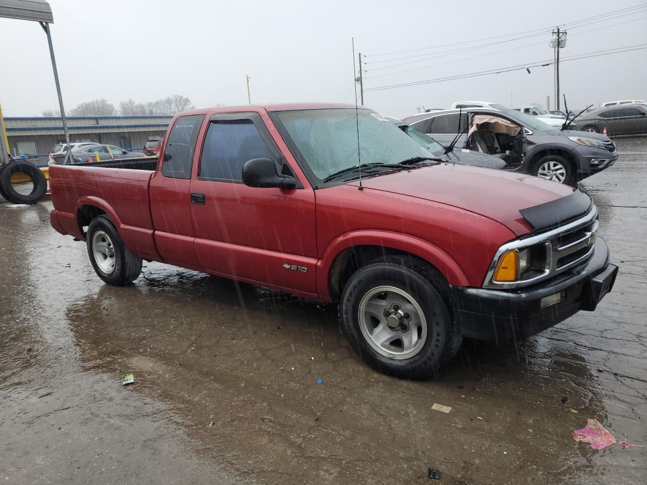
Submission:
[[[270,158],[276,163],[252,120],[213,120],[204,136],[198,176],[241,182],[243,165],[253,158]]]

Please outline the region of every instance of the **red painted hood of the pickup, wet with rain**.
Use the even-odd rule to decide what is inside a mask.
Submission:
[[[359,183],[353,181],[351,185]],[[517,236],[534,229],[520,210],[547,204],[576,190],[532,175],[449,163],[365,178],[362,186],[477,213],[501,222]]]

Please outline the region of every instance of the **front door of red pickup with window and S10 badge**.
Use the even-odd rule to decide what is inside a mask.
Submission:
[[[212,116],[191,182],[198,261],[214,274],[314,295],[314,190],[246,186],[243,165],[253,158],[279,171],[287,164],[260,114]]]

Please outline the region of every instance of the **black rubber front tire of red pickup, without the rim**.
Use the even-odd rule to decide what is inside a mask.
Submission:
[[[410,358],[389,358],[376,350],[362,333],[360,302],[379,286],[403,290],[422,309],[427,335],[421,348]],[[408,379],[436,376],[461,345],[461,329],[448,284],[429,264],[408,256],[380,258],[357,270],[344,287],[339,312],[342,331],[355,352],[373,369],[391,376]],[[408,331],[413,331],[411,323]]]

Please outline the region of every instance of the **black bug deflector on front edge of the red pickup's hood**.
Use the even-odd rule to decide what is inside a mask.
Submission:
[[[535,231],[541,231],[564,224],[584,215],[591,208],[593,200],[581,186],[571,194],[551,200],[545,204],[521,209],[523,218],[532,224]]]

